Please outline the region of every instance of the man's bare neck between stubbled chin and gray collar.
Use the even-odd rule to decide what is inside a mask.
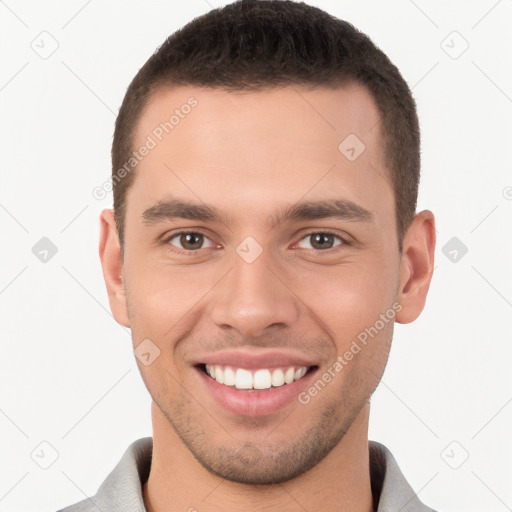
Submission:
[[[314,468],[281,484],[245,485],[206,470],[153,403],[153,458],[143,488],[148,512],[261,510],[371,512],[369,404]]]

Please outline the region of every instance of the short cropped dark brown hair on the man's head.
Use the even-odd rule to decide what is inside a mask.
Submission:
[[[169,36],[132,80],[112,144],[121,247],[126,194],[134,172],[121,180],[117,173],[132,156],[135,128],[156,89],[195,85],[258,91],[287,85],[335,88],[354,82],[367,88],[379,109],[402,250],[416,211],[420,175],[420,132],[411,91],[365,34],[321,9],[287,0],[237,1],[194,19]]]

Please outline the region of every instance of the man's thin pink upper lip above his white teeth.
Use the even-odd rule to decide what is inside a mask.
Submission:
[[[292,352],[278,350],[226,350],[205,354],[196,358],[198,364],[219,364],[244,368],[247,370],[257,368],[282,368],[282,367],[303,367],[315,366],[315,363],[304,356]]]

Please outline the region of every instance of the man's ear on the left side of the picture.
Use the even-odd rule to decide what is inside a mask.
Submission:
[[[116,322],[125,327],[130,327],[123,278],[123,257],[117,235],[114,211],[110,209],[103,210],[100,215],[99,252],[110,310]]]

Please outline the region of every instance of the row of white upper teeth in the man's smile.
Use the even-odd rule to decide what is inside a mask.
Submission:
[[[307,371],[307,366],[300,368],[290,366],[274,370],[262,368],[251,371],[218,364],[206,365],[206,373],[212,379],[215,379],[219,384],[235,386],[237,389],[269,389],[283,384],[291,384],[293,381],[304,377]]]

